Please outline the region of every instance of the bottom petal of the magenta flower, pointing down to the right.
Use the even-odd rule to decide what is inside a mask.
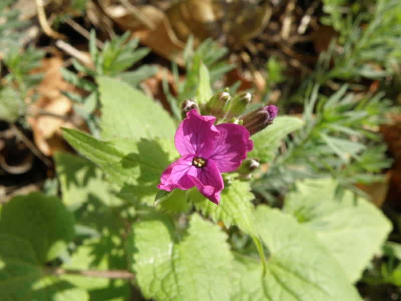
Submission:
[[[220,192],[224,188],[224,183],[215,161],[209,159],[205,167],[190,169],[188,177],[200,193],[219,205]]]

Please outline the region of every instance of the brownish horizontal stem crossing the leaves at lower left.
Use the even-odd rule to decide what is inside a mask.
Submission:
[[[78,269],[64,269],[61,267],[47,267],[46,272],[53,275],[81,275],[87,277],[109,278],[109,279],[134,279],[135,274],[124,270],[78,270]]]

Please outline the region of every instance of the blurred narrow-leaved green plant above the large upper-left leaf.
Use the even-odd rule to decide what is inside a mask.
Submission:
[[[149,65],[143,65],[134,71],[126,71],[150,52],[148,48],[137,49],[139,41],[137,39],[128,41],[129,36],[130,32],[126,32],[111,41],[106,41],[103,49],[99,51],[96,45],[95,31],[92,30],[89,40],[89,53],[93,62],[93,69],[84,66],[76,59],[73,59],[72,63],[80,75],[66,68],[60,69],[66,81],[89,93],[88,96],[82,96],[78,93],[62,91],[64,95],[77,103],[73,108],[84,118],[94,136],[98,137],[100,134],[100,118],[95,113],[99,108],[99,93],[93,79],[98,76],[110,76],[119,78],[131,86],[138,86],[142,80],[157,72],[156,66]],[[85,77],[89,78],[86,79]]]

